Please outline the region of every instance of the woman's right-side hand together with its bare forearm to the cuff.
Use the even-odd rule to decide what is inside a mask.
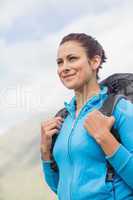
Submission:
[[[92,111],[84,122],[84,127],[108,156],[113,155],[120,146],[120,143],[110,132],[114,122],[113,116],[107,117],[98,110]]]

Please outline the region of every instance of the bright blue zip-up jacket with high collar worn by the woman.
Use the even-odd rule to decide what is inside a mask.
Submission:
[[[107,97],[103,86],[76,119],[75,96],[70,103],[65,102],[69,114],[53,151],[59,173],[50,168],[50,161],[42,161],[45,180],[59,200],[133,200],[133,104],[123,98],[114,109],[114,127],[122,142],[111,156],[104,154],[83,127],[88,114],[99,109]],[[105,181],[107,160],[115,169],[112,182]]]

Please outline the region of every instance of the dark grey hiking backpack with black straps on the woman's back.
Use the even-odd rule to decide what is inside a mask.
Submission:
[[[99,83],[100,85],[105,85],[108,87],[108,98],[104,101],[102,107],[99,109],[106,116],[111,116],[113,110],[121,98],[125,98],[130,100],[133,103],[133,74],[132,73],[116,73],[113,74],[103,81]],[[65,108],[59,110],[56,116],[61,116],[62,118],[66,118],[68,115],[68,111]],[[111,133],[114,137],[121,142],[119,134],[117,134],[117,130],[112,127]],[[51,168],[54,171],[58,171],[58,166],[53,157],[53,147],[56,141],[58,134],[54,134],[52,136],[52,145],[51,145]],[[114,169],[107,161],[107,174],[106,181],[112,181],[114,177]]]

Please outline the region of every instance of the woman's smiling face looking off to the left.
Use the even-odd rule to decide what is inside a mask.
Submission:
[[[57,65],[59,78],[69,89],[81,89],[96,76],[96,69],[87,57],[84,47],[76,41],[68,41],[59,46]]]

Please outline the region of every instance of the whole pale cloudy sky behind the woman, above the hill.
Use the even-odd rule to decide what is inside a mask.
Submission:
[[[73,95],[57,76],[63,36],[85,32],[104,47],[101,79],[132,73],[132,0],[0,0],[0,133]]]

